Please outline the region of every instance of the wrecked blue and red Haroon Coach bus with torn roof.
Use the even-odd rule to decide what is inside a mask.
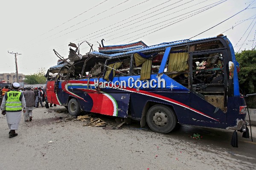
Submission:
[[[102,43],[86,55],[73,46],[47,72],[47,102],[73,116],[87,111],[134,119],[158,133],[177,123],[230,130],[247,125],[239,64],[226,36],[151,46]]]

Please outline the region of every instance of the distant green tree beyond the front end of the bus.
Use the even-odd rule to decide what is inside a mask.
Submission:
[[[45,68],[40,68],[37,73],[26,75],[24,82],[29,85],[44,84],[46,82],[45,73]]]

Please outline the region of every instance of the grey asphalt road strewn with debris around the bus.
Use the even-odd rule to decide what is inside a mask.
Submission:
[[[118,125],[113,117],[96,116],[107,126]],[[1,115],[0,170],[256,169],[256,143],[238,133],[239,147],[231,147],[232,130],[181,126],[159,134],[140,129],[138,122],[104,130],[68,119],[62,106],[36,108],[32,122],[22,117],[18,136],[9,139],[6,117]],[[256,141],[256,127],[252,130]],[[194,133],[203,138],[190,138]]]

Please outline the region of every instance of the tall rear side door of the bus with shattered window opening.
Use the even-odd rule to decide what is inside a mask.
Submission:
[[[226,123],[227,50],[192,52],[189,65],[192,125]]]

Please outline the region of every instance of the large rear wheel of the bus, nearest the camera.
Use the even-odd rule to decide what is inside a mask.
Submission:
[[[169,133],[175,128],[177,117],[168,106],[154,105],[148,110],[147,122],[151,130],[157,133]]]

